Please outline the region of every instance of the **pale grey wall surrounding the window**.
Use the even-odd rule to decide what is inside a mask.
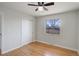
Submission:
[[[77,50],[77,12],[65,12],[56,15],[49,15],[37,18],[37,40],[62,46],[68,49]],[[61,33],[47,34],[45,32],[46,20],[60,18]]]

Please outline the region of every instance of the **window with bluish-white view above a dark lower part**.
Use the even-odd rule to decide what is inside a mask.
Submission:
[[[60,34],[60,25],[61,25],[61,20],[59,18],[47,20],[46,33],[48,33],[48,34]]]

